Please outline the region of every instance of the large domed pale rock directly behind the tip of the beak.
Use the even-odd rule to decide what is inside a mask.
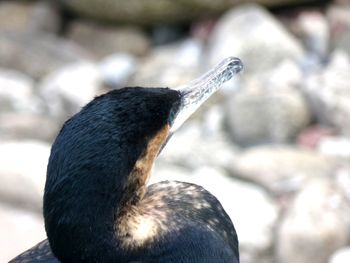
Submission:
[[[244,75],[249,75],[273,69],[284,60],[298,61],[303,53],[300,43],[279,21],[249,4],[219,19],[209,39],[207,59],[213,66],[226,57],[239,57],[245,65]]]

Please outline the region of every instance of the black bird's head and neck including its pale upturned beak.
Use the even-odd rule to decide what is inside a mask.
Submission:
[[[239,59],[228,58],[178,89],[113,90],[70,118],[47,168],[44,218],[54,253],[75,258],[88,240],[99,238],[94,233],[110,231],[113,237],[115,217],[143,197],[153,162],[171,133],[241,69]]]

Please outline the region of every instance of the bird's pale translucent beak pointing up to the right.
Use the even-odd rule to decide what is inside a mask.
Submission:
[[[223,83],[237,75],[242,69],[243,64],[239,58],[229,57],[201,77],[187,85],[178,87],[177,90],[181,93],[181,102],[178,105],[170,131],[176,131]]]

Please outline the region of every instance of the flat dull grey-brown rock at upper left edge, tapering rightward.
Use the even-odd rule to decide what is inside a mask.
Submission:
[[[80,47],[38,32],[0,32],[0,67],[12,68],[36,79],[89,55]]]

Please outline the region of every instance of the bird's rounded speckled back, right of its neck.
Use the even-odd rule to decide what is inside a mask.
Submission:
[[[201,186],[150,185],[141,206],[157,235],[136,262],[239,262],[238,239],[220,202]]]

